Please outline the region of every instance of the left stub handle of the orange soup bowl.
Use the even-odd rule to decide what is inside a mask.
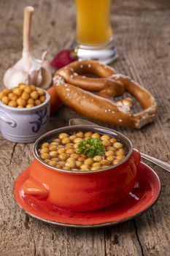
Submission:
[[[35,181],[33,178],[28,178],[23,183],[23,191],[26,195],[33,195],[38,199],[44,199],[49,193],[47,185]]]

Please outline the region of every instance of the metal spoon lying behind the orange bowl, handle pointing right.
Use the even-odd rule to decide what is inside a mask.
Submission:
[[[71,118],[69,119],[69,125],[72,126],[72,125],[79,125],[79,124],[85,124],[85,125],[97,125],[91,121],[87,121],[85,119],[81,119],[81,118]],[[144,153],[141,153],[141,157],[143,159],[147,159],[148,161],[152,162],[153,164],[155,165],[158,165],[160,167],[162,167],[163,169],[165,170],[168,170],[170,172],[170,165],[167,164],[166,162],[163,162],[155,157],[150,157],[148,154],[144,154]]]

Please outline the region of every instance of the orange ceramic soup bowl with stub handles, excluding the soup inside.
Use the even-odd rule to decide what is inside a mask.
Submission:
[[[125,159],[117,165],[93,171],[57,169],[40,159],[38,151],[43,142],[53,140],[62,132],[72,134],[76,131],[98,132],[117,138],[126,148]],[[34,144],[34,157],[29,178],[23,184],[24,192],[68,211],[96,211],[127,196],[134,187],[136,165],[140,162],[139,152],[124,135],[104,127],[80,125],[42,135]]]

